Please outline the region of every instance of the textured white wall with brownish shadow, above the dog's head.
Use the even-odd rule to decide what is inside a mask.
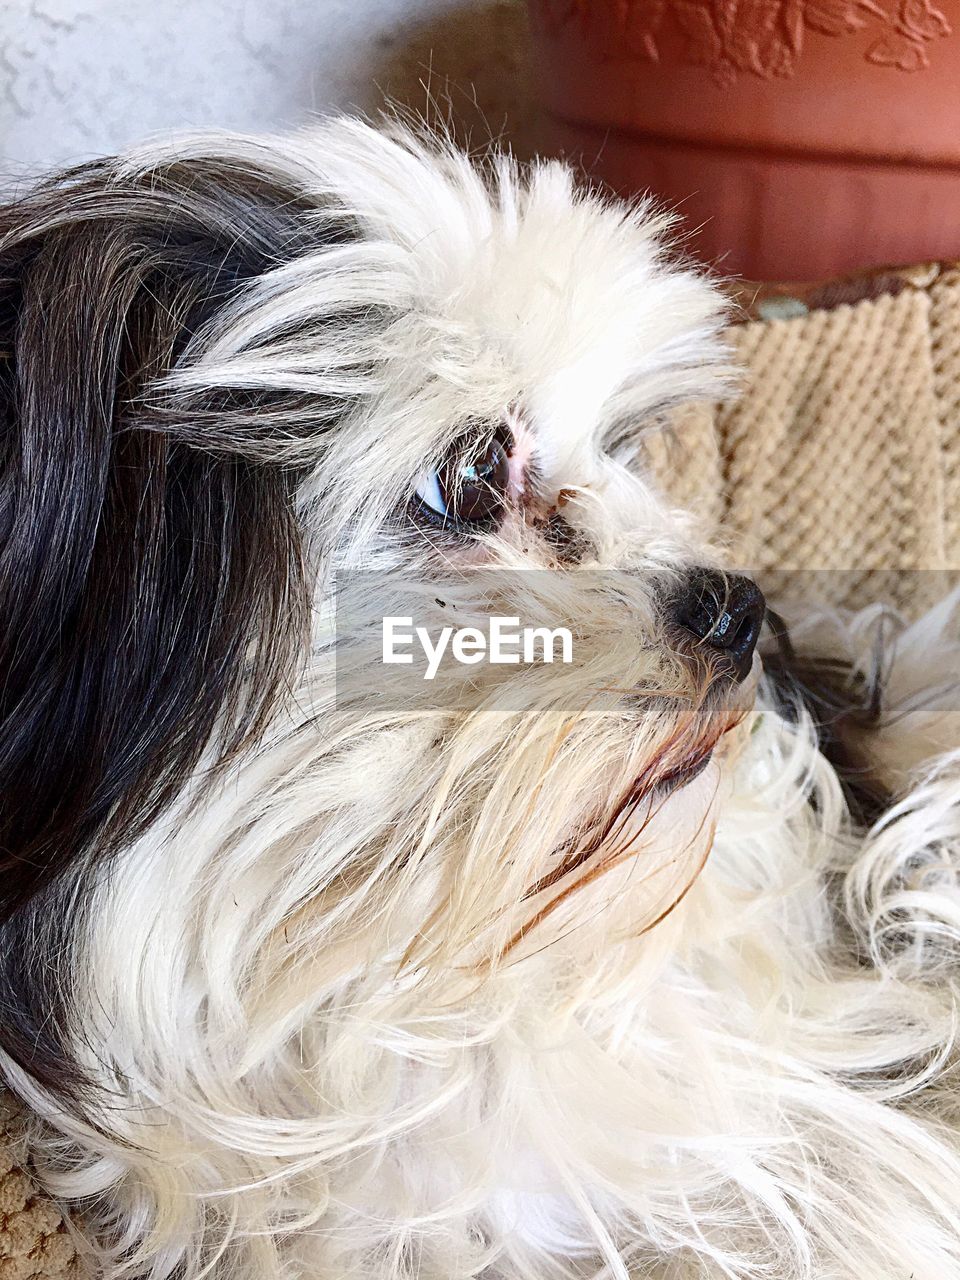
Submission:
[[[370,110],[384,93],[422,109],[428,74],[467,124],[506,119],[526,152],[525,36],[520,0],[0,0],[0,172],[177,128]]]

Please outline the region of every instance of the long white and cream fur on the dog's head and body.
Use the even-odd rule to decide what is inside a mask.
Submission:
[[[42,1117],[46,1184],[82,1201],[97,1265],[152,1280],[960,1280],[948,682],[911,713],[914,756],[896,721],[877,748],[902,799],[873,831],[854,828],[809,721],[762,684],[708,769],[649,822],[627,818],[605,874],[541,916],[550,891],[525,896],[694,732],[649,584],[713,553],[603,442],[717,394],[718,297],[664,256],[659,215],[577,193],[557,164],[480,174],[351,122],[216,147],[353,212],[366,238],[264,278],[175,388],[302,387],[360,408],[301,495],[317,608],[300,686],[256,750],[197,780],[200,804],[184,795],[101,873],[77,975],[77,1053],[111,1094],[101,1129],[15,1076]],[[385,332],[273,339],[381,303],[403,311]],[[483,685],[430,716],[334,705],[334,570],[443,572],[388,516],[457,424],[508,407],[539,492],[563,492],[593,539],[586,567],[636,571],[630,599],[531,576],[521,603],[576,609],[594,645],[563,705],[586,709],[600,672],[677,696],[572,721],[484,714]],[[247,447],[311,461],[302,433]],[[556,568],[520,508],[471,554]],[[933,644],[956,654],[950,613],[899,639],[897,698]]]

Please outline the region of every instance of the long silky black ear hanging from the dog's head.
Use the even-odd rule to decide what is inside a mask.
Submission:
[[[303,621],[296,476],[147,390],[346,234],[275,173],[201,159],[0,209],[0,920],[269,713]]]

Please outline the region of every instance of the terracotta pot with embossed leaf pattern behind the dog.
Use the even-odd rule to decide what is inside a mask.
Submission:
[[[758,280],[960,257],[960,0],[530,0],[552,141]]]

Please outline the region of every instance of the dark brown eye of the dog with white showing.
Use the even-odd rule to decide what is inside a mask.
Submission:
[[[417,511],[453,529],[489,529],[499,520],[509,481],[511,435],[506,428],[463,447],[458,442],[416,486]]]

